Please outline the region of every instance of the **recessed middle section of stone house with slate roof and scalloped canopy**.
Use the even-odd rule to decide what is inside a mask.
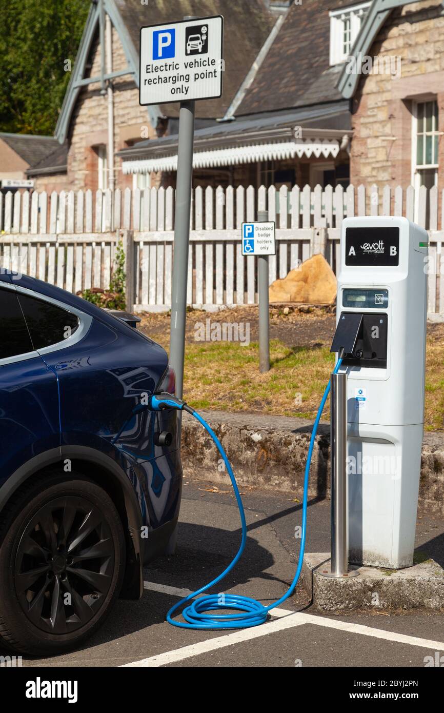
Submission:
[[[331,61],[329,38],[331,11],[350,5],[269,5],[274,24],[257,56],[249,56],[244,81],[220,120],[196,130],[195,185],[349,184],[351,115],[336,88],[342,55]],[[345,51],[363,17],[356,14]],[[123,173],[138,175],[142,187],[153,185],[153,172],[161,171],[163,185],[175,185],[177,138],[171,125],[167,135],[120,151]]]

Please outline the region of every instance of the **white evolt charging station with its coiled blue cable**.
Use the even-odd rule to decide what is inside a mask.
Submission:
[[[342,224],[340,254],[336,332],[331,345],[338,359],[311,431],[298,565],[289,589],[271,605],[265,607],[251,597],[235,594],[199,596],[218,585],[242,556],[247,541],[242,498],[227,454],[205,419],[177,396],[161,393],[150,397],[149,409],[185,410],[211,436],[232,481],[242,523],[242,541],[227,568],[167,612],[167,621],[176,627],[254,627],[267,621],[270,610],[294,593],[304,561],[311,456],[331,383],[342,384],[342,398],[333,399],[343,404],[341,426],[334,418],[336,411],[332,411],[332,419],[336,421],[335,434],[341,436],[341,443],[335,444],[335,463],[339,458],[336,465],[344,476],[346,458],[349,471],[348,483],[345,478],[348,518],[343,478],[336,493],[336,505],[342,501],[343,507],[335,506],[334,516],[332,510],[332,525],[338,525],[339,535],[334,542],[332,526],[334,568],[326,575],[356,574],[347,572],[347,540],[351,563],[390,569],[413,565],[424,424],[428,234],[403,217],[347,218]],[[175,618],[180,609],[185,622]],[[222,614],[220,610],[236,613]],[[217,613],[207,613],[211,611]]]

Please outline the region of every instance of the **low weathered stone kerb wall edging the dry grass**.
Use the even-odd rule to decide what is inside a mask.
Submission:
[[[290,416],[201,411],[227,451],[241,486],[287,491],[302,496],[312,421]],[[330,426],[321,423],[311,463],[309,498],[329,497]],[[229,483],[210,436],[195,419],[182,420],[182,463],[185,476]],[[423,439],[420,506],[444,516],[444,434]]]

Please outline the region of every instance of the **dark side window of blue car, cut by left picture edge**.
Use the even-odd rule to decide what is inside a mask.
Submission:
[[[16,292],[0,288],[0,359],[33,352]]]

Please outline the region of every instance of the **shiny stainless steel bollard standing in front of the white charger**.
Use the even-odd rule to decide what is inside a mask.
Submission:
[[[347,529],[347,374],[331,374],[331,575],[349,569]]]

